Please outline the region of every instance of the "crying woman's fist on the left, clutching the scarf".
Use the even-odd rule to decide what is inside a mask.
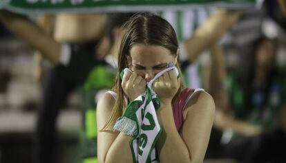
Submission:
[[[135,72],[124,72],[122,76],[122,89],[130,101],[135,100],[146,90],[146,80]]]

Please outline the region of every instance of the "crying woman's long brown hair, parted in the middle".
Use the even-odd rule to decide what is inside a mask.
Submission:
[[[178,40],[175,30],[173,30],[171,24],[155,14],[149,12],[135,14],[122,26],[122,30],[125,30],[125,34],[120,45],[117,75],[112,87],[113,91],[117,93],[117,98],[113,110],[111,111],[111,116],[101,131],[111,131],[108,127],[111,127],[116,119],[122,116],[125,95],[121,86],[122,80],[120,79],[120,72],[122,69],[128,67],[128,56],[130,56],[130,50],[133,45],[137,43],[159,45],[165,47],[175,57],[178,57]],[[178,67],[180,72],[178,62],[175,66]],[[182,78],[180,78],[180,87],[176,96],[178,96],[181,90]]]

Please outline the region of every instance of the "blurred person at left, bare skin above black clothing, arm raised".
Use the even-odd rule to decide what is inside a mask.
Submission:
[[[35,152],[36,162],[56,162],[55,124],[59,110],[64,107],[68,94],[84,85],[89,71],[97,64],[95,45],[102,37],[106,17],[100,14],[59,15],[55,20],[60,23],[56,23],[54,37],[19,14],[2,10],[1,21],[15,36],[38,50],[53,65],[44,80]],[[90,27],[86,28],[90,30],[88,32],[81,27]],[[68,45],[62,41],[74,44]]]

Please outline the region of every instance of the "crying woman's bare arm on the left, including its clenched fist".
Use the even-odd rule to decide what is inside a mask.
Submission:
[[[142,94],[146,88],[146,81],[134,72],[125,72],[122,77],[122,89],[132,101]],[[115,99],[111,94],[104,94],[97,103],[97,129],[102,129],[107,122]],[[113,129],[111,129],[112,131]],[[131,136],[119,132],[97,131],[97,157],[99,162],[133,162],[129,142]]]

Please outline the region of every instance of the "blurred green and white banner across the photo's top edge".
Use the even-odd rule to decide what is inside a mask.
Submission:
[[[137,12],[200,7],[252,8],[257,0],[0,0],[0,8],[22,14]]]

